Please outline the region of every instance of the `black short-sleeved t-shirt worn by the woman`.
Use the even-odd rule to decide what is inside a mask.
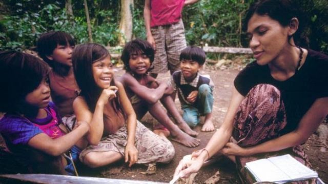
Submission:
[[[303,66],[285,81],[274,79],[268,65],[256,62],[247,65],[234,80],[243,96],[258,84],[271,84],[280,90],[287,117],[283,133],[291,132],[317,98],[328,96],[328,56],[309,50]]]

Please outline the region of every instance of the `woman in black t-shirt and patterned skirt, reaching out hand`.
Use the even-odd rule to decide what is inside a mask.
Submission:
[[[217,153],[235,161],[242,176],[245,162],[282,154],[311,167],[301,144],[328,114],[328,56],[296,45],[302,21],[295,7],[263,0],[249,9],[245,24],[256,61],[237,75],[220,129],[175,175],[188,177]]]

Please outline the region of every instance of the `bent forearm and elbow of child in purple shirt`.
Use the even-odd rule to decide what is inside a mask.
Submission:
[[[52,139],[45,133],[39,133],[28,141],[28,145],[49,155],[59,156],[71,149],[88,131],[89,124],[81,121],[76,129],[66,135]]]

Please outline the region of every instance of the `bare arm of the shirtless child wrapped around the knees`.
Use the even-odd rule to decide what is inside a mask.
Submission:
[[[150,76],[148,77],[150,78]],[[150,104],[156,103],[165,94],[166,89],[168,88],[166,83],[159,83],[157,88],[148,88],[147,86],[139,84],[130,73],[121,76],[120,81],[125,87],[130,88],[137,96],[146,100]]]

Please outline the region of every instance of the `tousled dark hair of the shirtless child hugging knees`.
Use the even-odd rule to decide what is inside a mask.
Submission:
[[[146,40],[137,38],[125,45],[122,51],[121,60],[124,63],[124,68],[127,72],[131,71],[129,66],[130,55],[140,53],[144,53],[149,57],[150,64],[154,62],[154,48]]]

